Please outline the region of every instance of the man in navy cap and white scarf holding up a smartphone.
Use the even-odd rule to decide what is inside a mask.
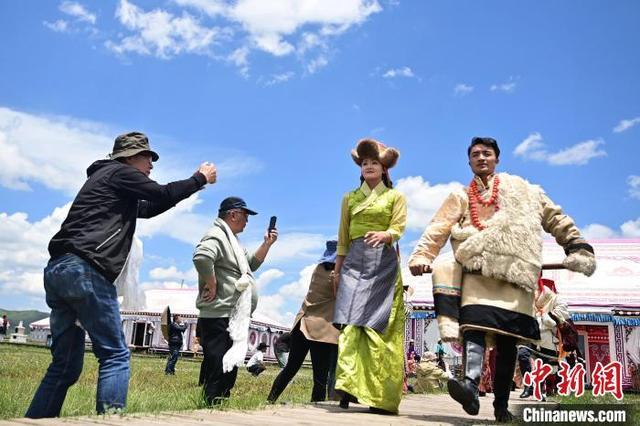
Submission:
[[[231,395],[237,365],[244,362],[247,352],[248,317],[258,303],[252,273],[262,265],[278,239],[273,223],[273,229],[267,230],[264,242],[253,254],[242,248],[237,235],[244,231],[249,216],[256,214],[242,198],[224,199],[218,218],[193,255],[198,271],[196,307],[200,310],[198,321],[204,352],[204,395],[210,405]]]

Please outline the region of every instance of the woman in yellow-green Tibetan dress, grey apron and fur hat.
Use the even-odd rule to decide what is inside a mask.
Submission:
[[[388,169],[399,153],[365,139],[351,153],[361,186],[342,200],[336,267],[334,324],[338,340],[336,390],[340,406],[357,399],[378,413],[397,413],[404,375],[404,304],[393,243],[404,232],[404,196]]]

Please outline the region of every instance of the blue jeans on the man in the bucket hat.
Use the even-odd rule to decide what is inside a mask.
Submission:
[[[122,333],[115,286],[78,256],[65,254],[49,261],[44,288],[51,308],[53,360],[25,416],[60,415],[67,390],[82,372],[85,330],[100,364],[96,411],[101,414],[124,408],[129,388],[129,349]]]

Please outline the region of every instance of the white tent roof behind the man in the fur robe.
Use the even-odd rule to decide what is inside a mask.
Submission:
[[[543,276],[555,281],[558,294],[573,311],[610,312],[612,309],[640,309],[640,239],[593,240],[597,269],[591,277],[567,270],[544,271]],[[451,251],[438,258],[452,259]],[[562,247],[545,241],[544,263],[561,263]],[[404,267],[405,285],[414,288],[410,301],[417,305],[433,305],[431,275],[414,277]]]

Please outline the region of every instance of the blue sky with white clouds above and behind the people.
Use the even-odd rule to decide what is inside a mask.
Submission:
[[[219,182],[140,223],[145,288],[195,284],[195,242],[228,195],[281,238],[260,309],[287,322],[357,186],[349,151],[401,151],[404,259],[471,178],[472,136],[541,184],[590,238],[640,237],[635,1],[121,0],[0,3],[0,306],[45,309],[46,244],[116,135],[160,153],[152,177]],[[66,207],[65,207],[66,206]]]

